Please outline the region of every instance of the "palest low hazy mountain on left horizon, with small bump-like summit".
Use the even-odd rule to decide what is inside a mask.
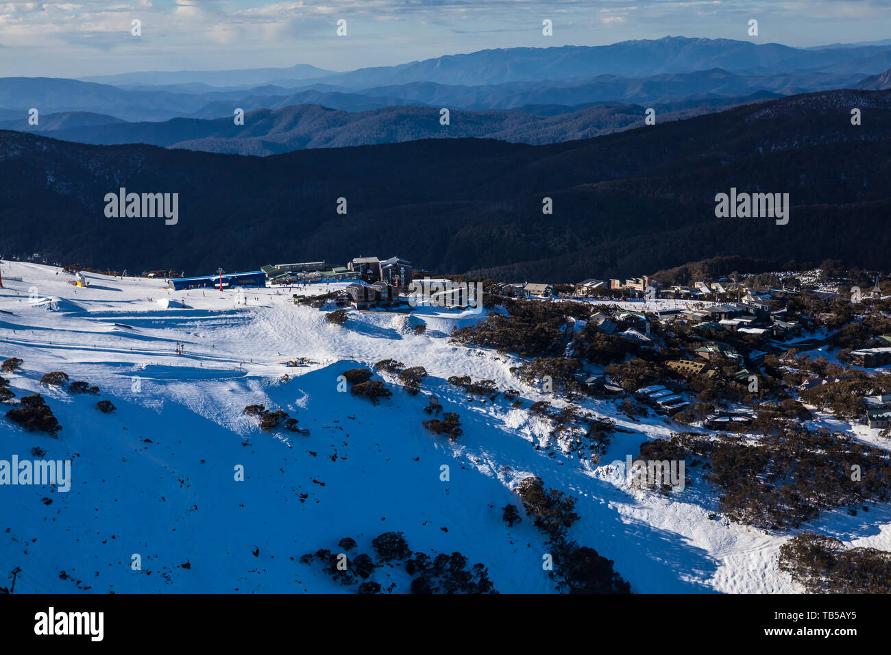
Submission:
[[[298,63],[290,68],[242,69],[242,70],[175,70],[170,72],[153,70],[151,72],[121,73],[119,75],[94,75],[81,78],[86,82],[99,82],[114,86],[125,85],[186,85],[202,84],[208,86],[257,86],[269,84],[276,78],[303,80],[322,78],[331,75],[331,70],[324,70]]]

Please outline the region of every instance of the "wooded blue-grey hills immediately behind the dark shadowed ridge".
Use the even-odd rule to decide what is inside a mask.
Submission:
[[[763,95],[726,99],[727,105],[764,100]],[[715,111],[720,102],[656,105],[658,120],[690,118]],[[434,107],[385,107],[370,111],[333,110],[301,104],[278,110],[247,113],[244,125],[233,119],[170,119],[127,123],[102,114],[50,114],[34,131],[65,141],[114,145],[148,143],[227,154],[266,156],[305,148],[339,148],[374,143],[401,143],[429,138],[494,138],[511,143],[559,143],[641,127],[642,105],[599,103],[576,111],[550,114],[548,108],[528,111],[452,111],[449,124],[440,123]],[[19,128],[20,120],[0,121],[0,129]],[[26,131],[21,130],[20,131]]]

